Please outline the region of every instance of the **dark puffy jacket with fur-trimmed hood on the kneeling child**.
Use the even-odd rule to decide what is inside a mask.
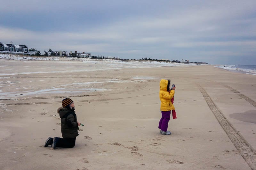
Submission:
[[[57,112],[60,114],[61,134],[63,138],[74,138],[79,135],[76,114],[74,110],[59,107]]]

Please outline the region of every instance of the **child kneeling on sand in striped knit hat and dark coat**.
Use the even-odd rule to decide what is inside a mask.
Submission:
[[[75,104],[73,100],[66,98],[62,100],[62,107],[59,107],[57,112],[60,114],[61,134],[62,137],[48,137],[44,146],[52,145],[53,149],[56,147],[73,148],[76,143],[76,137],[79,135],[78,126],[81,123],[76,120]]]

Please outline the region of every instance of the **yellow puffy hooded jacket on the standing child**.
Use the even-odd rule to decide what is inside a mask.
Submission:
[[[168,92],[167,85],[168,85],[168,80],[162,79],[160,81],[159,98],[161,100],[161,107],[160,107],[161,111],[175,110],[175,108],[171,102],[171,99],[173,98],[175,91],[171,90],[171,92]]]

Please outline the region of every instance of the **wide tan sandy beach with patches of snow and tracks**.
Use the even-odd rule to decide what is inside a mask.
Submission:
[[[99,70],[108,66],[1,60],[0,66],[0,169],[256,168],[254,75],[212,65]],[[171,117],[166,136],[158,129],[161,79],[176,85],[177,119]],[[66,97],[84,126],[74,148],[52,150],[43,145],[61,137],[56,110]]]

